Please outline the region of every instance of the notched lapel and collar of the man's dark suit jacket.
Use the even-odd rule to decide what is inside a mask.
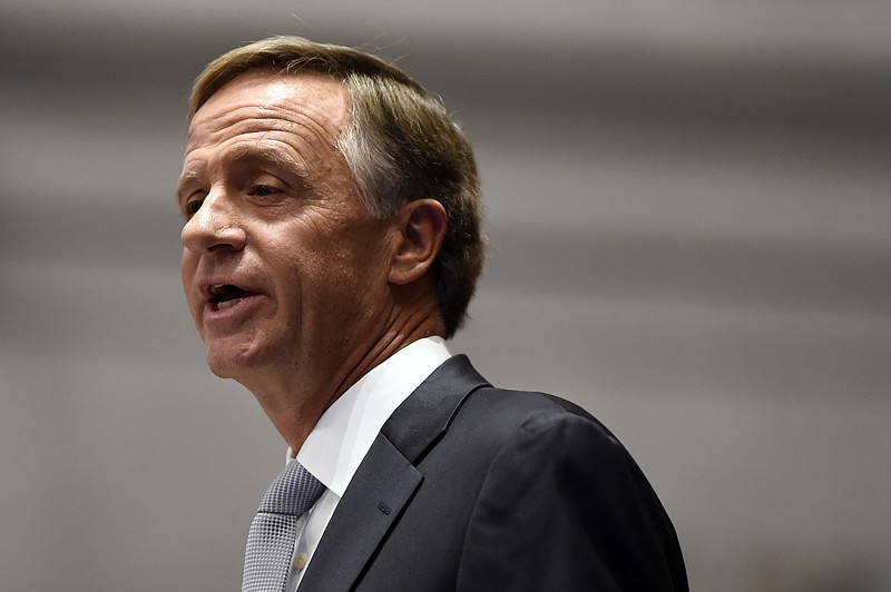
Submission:
[[[350,590],[423,481],[414,464],[488,383],[466,356],[447,361],[384,424],[331,517],[300,590]]]

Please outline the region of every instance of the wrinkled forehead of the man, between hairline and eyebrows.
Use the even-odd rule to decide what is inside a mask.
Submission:
[[[334,140],[346,118],[347,91],[337,79],[314,72],[252,71],[223,86],[197,110],[186,151],[233,132],[283,131]]]

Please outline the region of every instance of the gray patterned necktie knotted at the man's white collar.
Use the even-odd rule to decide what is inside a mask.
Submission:
[[[297,461],[270,485],[247,534],[242,592],[282,592],[291,570],[297,519],[325,486]]]

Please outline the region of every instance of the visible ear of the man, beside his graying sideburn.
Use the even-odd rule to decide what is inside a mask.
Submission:
[[[422,277],[439,255],[447,227],[446,208],[435,199],[409,201],[396,213],[400,237],[389,279],[404,286]]]

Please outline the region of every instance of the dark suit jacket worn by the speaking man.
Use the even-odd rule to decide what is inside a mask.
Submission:
[[[674,527],[597,420],[464,356],[393,413],[301,592],[687,590]]]

